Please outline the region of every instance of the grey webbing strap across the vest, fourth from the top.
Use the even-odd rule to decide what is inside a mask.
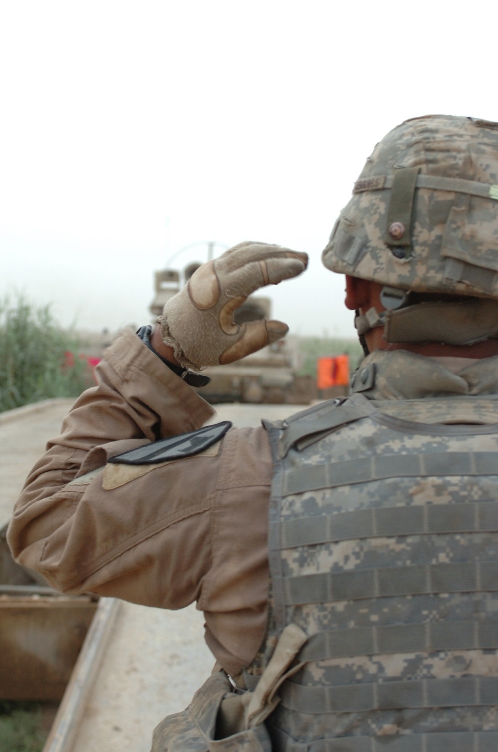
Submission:
[[[428,621],[317,632],[308,639],[298,659],[299,661],[317,661],[396,653],[496,650],[496,648],[498,648],[498,622],[496,621]]]

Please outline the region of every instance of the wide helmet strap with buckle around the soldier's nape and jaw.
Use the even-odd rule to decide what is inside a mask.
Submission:
[[[384,291],[387,292],[384,295]],[[411,342],[424,344],[466,345],[475,344],[485,339],[498,338],[498,301],[488,298],[466,298],[457,301],[421,302],[405,305],[409,293],[398,290],[399,295],[392,296],[396,288],[382,290],[381,301],[404,299],[397,308],[391,306],[379,313],[375,306],[366,314],[357,315],[354,320],[360,342],[365,340],[366,332],[377,326],[384,326],[384,339],[387,342]],[[367,350],[366,343],[363,350]]]

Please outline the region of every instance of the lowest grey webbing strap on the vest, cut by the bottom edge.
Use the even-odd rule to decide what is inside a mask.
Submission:
[[[294,741],[276,726],[272,738],[282,752],[496,752],[496,731],[444,731],[428,734],[337,736],[317,741]]]

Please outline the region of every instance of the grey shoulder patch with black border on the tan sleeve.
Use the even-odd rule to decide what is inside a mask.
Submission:
[[[220,441],[220,438],[226,434],[231,425],[232,423],[229,420],[223,420],[223,423],[205,426],[199,428],[198,431],[181,433],[171,438],[162,438],[160,441],[145,444],[144,447],[117,454],[117,456],[111,457],[108,462],[116,462],[120,465],[154,465],[156,462],[165,462],[167,459],[190,457]]]

